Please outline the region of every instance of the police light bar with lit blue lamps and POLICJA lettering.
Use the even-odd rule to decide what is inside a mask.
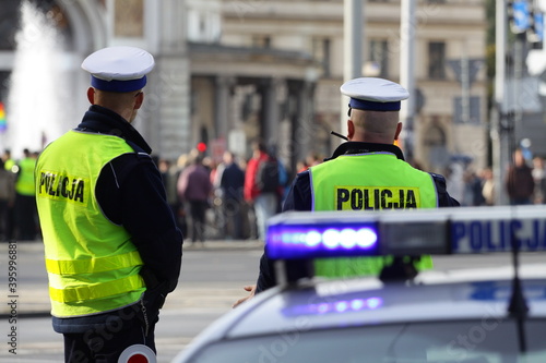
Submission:
[[[546,206],[290,211],[269,220],[272,259],[546,250]]]

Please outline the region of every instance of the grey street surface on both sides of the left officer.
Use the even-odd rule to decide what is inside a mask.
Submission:
[[[203,328],[232,310],[233,302],[246,293],[242,286],[256,280],[261,251],[261,244],[254,241],[205,242],[204,246],[185,246],[178,288],[167,299],[156,328],[158,362],[170,362]],[[0,362],[62,361],[62,336],[52,331],[49,317],[41,243],[17,243],[15,294],[9,291],[8,256],[9,245],[0,244],[0,290],[4,291],[0,307],[0,335],[5,337],[0,349]],[[9,352],[7,337],[13,326],[9,323],[10,300],[17,303],[16,355]]]

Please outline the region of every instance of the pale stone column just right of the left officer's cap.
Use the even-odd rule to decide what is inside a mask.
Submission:
[[[156,63],[145,89],[144,123],[150,128],[154,154],[176,160],[192,146],[186,9],[183,2],[177,0],[147,0],[144,3],[146,41],[154,50]]]

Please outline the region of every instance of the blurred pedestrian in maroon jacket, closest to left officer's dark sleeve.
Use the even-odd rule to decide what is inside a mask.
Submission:
[[[204,242],[205,216],[210,207],[212,192],[210,170],[203,166],[201,154],[192,155],[190,166],[185,168],[178,179],[178,196],[190,209],[191,241]]]

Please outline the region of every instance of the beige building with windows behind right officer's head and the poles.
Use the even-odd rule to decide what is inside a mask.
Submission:
[[[343,83],[344,1],[224,1],[222,44],[308,53],[319,65],[313,82],[311,149],[329,154],[331,130],[339,131],[339,87]],[[400,1],[363,4],[363,75],[400,81]],[[415,159],[443,171],[454,157],[477,167],[487,155],[487,86],[484,2],[416,1]],[[296,137],[301,137],[297,135]],[[300,156],[298,156],[300,157]]]

